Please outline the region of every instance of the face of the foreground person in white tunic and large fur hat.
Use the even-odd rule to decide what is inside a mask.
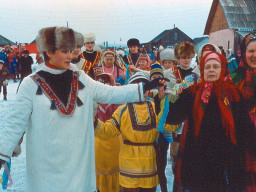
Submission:
[[[71,62],[71,52],[72,51],[70,50],[56,50],[55,53],[47,51],[46,54],[50,58],[50,64],[60,69],[69,69]]]

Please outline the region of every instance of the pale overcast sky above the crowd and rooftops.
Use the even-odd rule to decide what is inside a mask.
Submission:
[[[30,43],[49,26],[94,32],[96,43],[152,40],[174,25],[191,38],[203,36],[213,0],[0,0],[0,35]]]

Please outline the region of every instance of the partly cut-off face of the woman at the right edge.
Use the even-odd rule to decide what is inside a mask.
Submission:
[[[252,69],[256,69],[256,40],[250,42],[245,51],[246,62],[249,67]]]

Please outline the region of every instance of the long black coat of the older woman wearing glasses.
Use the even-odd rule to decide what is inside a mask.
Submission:
[[[183,188],[193,192],[243,191],[246,185],[245,153],[246,150],[254,155],[256,152],[256,136],[244,101],[231,104],[237,145],[226,137],[214,94],[205,109],[199,136],[195,138],[194,102],[195,95],[186,89],[169,106],[166,123],[177,124],[188,119],[178,154],[181,167],[177,168],[176,176],[180,174]],[[156,110],[159,111],[159,102],[156,102]]]

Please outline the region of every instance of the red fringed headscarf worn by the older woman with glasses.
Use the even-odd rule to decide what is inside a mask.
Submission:
[[[204,79],[204,65],[209,59],[215,59],[221,63],[220,78],[215,82],[207,82]],[[226,136],[230,136],[232,143],[236,144],[234,119],[230,108],[230,102],[238,101],[240,99],[240,94],[238,88],[236,88],[230,81],[225,81],[225,75],[227,72],[226,58],[218,52],[206,54],[201,59],[200,72],[202,81],[190,87],[190,91],[196,95],[193,107],[195,136],[198,137],[199,135],[204,110],[212,93],[214,93],[220,107],[222,125],[226,131]]]

